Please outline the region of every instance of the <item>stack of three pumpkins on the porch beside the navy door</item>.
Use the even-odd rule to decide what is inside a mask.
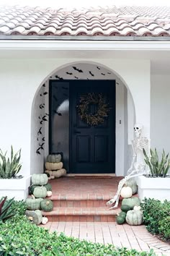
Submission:
[[[61,154],[48,155],[45,168],[48,179],[60,178],[66,175],[66,169],[63,168],[63,162],[61,162]]]

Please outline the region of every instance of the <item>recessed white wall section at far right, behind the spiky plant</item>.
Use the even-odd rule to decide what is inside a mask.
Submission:
[[[151,76],[151,148],[170,152],[170,75]]]

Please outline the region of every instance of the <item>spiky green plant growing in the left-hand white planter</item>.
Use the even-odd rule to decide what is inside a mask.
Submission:
[[[11,148],[10,159],[6,157],[6,153],[2,153],[0,150],[0,179],[11,179],[16,176],[22,168],[22,165],[19,163],[21,149],[14,154],[14,150]]]

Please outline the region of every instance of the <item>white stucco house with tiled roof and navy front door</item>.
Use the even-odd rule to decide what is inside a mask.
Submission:
[[[22,148],[24,176],[56,152],[68,173],[123,176],[140,123],[169,152],[169,40],[170,7],[0,7],[1,150]],[[89,91],[110,95],[100,130],[77,118]]]

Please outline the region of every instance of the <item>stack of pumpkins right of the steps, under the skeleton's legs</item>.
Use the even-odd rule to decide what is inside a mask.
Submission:
[[[138,197],[133,197],[137,192],[138,187],[134,179],[129,179],[122,187],[120,195],[123,197],[121,212],[117,215],[117,224],[122,224],[125,221],[129,225],[141,225],[143,223],[143,213],[140,209],[140,200]]]

